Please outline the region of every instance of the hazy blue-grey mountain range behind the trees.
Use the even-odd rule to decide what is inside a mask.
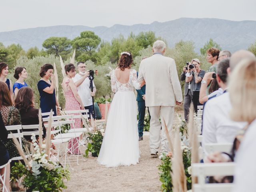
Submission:
[[[153,31],[156,36],[166,40],[169,47],[173,47],[180,40],[192,40],[195,51],[212,38],[222,50],[234,52],[239,49],[247,49],[256,40],[256,21],[230,21],[215,18],[180,18],[168,22],[153,22],[151,24],[134,24],[132,26],[115,24],[112,27],[97,26],[49,26],[20,29],[8,32],[0,32],[0,42],[5,46],[12,43],[20,44],[28,50],[37,46],[42,48],[42,43],[49,37],[68,37],[73,39],[80,32],[90,30],[95,32],[102,40],[111,42],[112,38],[122,34],[125,38],[130,32],[135,35],[139,32]]]

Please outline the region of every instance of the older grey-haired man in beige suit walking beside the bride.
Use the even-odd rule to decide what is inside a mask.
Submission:
[[[161,152],[169,152],[168,140],[164,132],[164,120],[169,133],[172,130],[174,106],[182,102],[182,90],[174,59],[163,56],[166,45],[157,40],[153,44],[154,55],[142,60],[138,80],[146,82],[146,106],[149,107],[150,120],[150,150],[157,156],[161,144]],[[162,122],[162,139],[160,138]]]

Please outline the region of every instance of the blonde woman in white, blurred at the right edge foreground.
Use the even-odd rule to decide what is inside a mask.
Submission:
[[[239,81],[237,80],[239,79]],[[230,117],[247,122],[248,128],[236,153],[233,192],[255,191],[256,146],[256,58],[243,60],[230,78]]]

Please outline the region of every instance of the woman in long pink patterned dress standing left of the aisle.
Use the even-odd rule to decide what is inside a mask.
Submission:
[[[66,99],[65,110],[84,109],[84,104],[77,92],[76,85],[72,80],[76,75],[76,67],[72,63],[66,64],[65,72],[66,76],[62,80],[62,88]],[[71,124],[70,128],[81,128],[81,118],[76,118],[74,127]],[[72,154],[79,154],[78,139],[79,138],[74,138],[68,143],[69,152]]]

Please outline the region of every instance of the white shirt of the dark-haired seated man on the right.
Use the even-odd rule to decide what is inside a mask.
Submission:
[[[208,143],[233,143],[238,130],[246,126],[245,122],[235,122],[230,119],[232,109],[229,93],[226,92],[206,102],[203,113],[202,148]]]

